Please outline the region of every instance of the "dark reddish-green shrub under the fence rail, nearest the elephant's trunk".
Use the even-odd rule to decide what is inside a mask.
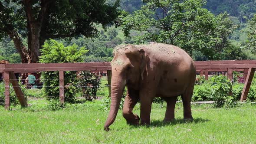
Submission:
[[[92,101],[97,98],[96,93],[100,84],[101,79],[99,75],[90,71],[79,72],[77,86],[82,89],[86,100]]]

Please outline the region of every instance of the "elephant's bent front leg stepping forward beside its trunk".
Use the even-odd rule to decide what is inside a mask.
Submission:
[[[138,91],[128,88],[127,95],[123,106],[123,117],[126,119],[128,124],[138,125],[140,118],[138,115],[133,114],[132,110],[138,102],[139,93]]]

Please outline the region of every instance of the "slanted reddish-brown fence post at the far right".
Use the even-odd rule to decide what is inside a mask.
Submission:
[[[255,72],[255,68],[250,68],[248,71],[247,77],[246,77],[246,81],[244,83],[244,87],[243,87],[243,92],[240,98],[240,101],[245,101],[247,98],[247,95],[249,93],[251,84],[253,82],[253,76],[254,76],[254,72]]]

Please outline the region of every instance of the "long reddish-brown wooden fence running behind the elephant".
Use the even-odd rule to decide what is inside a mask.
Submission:
[[[256,69],[256,60],[227,60],[227,61],[195,61],[197,72],[200,75],[205,75],[208,79],[209,72],[227,72],[228,79],[233,78],[233,71],[243,71],[246,78],[243,88],[241,101],[246,100],[249,92],[253,75]],[[65,71],[84,71],[90,70],[94,72],[107,71],[108,85],[111,85],[111,65],[110,62],[89,62],[89,63],[33,63],[33,64],[1,64],[0,73],[3,73],[5,82],[5,108],[10,108],[10,82],[14,85],[14,72],[49,72],[59,71],[59,98],[60,102],[64,103],[64,72]],[[14,87],[21,105],[27,106],[26,100],[19,89],[19,86]],[[109,93],[111,88],[109,87]]]

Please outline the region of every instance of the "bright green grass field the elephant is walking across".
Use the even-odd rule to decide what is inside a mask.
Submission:
[[[46,100],[29,101],[29,108],[0,108],[0,143],[256,143],[256,105],[237,108],[212,108],[193,105],[193,122],[184,122],[181,104],[176,107],[176,121],[162,123],[165,105],[153,104],[150,126],[129,126],[121,111],[111,131],[103,125],[108,111],[101,101],[67,105],[48,111]],[[135,107],[139,114],[139,105]]]

